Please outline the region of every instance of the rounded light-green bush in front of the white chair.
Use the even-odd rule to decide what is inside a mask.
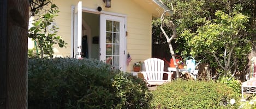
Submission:
[[[239,98],[230,87],[211,81],[177,80],[153,91],[152,108],[238,108]]]

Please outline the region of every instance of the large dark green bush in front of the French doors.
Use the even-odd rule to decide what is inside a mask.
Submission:
[[[148,108],[141,79],[98,60],[29,59],[29,108]]]

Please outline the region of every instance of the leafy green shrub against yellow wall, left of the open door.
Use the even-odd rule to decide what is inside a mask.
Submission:
[[[55,4],[51,5],[51,8],[43,15],[38,15],[39,19],[35,20],[33,27],[29,31],[29,38],[34,40],[39,48],[39,55],[43,57],[53,57],[53,45],[58,44],[59,47],[65,47],[67,44],[62,40],[61,36],[57,36],[57,27],[55,25],[54,18],[59,12],[58,7]]]

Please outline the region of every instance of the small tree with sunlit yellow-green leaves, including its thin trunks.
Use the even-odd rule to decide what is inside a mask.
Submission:
[[[188,46],[192,55],[206,55],[214,57],[216,65],[223,69],[223,74],[236,73],[237,62],[245,62],[251,50],[245,23],[248,17],[233,12],[225,14],[223,11],[215,13],[216,19],[206,22],[193,33],[185,30],[182,36],[188,39]]]

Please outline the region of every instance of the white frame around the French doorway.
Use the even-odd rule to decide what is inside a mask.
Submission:
[[[74,36],[74,10],[75,10],[75,5],[72,5],[71,6],[71,44],[70,44],[70,57],[75,57],[74,56],[74,39],[75,39],[75,36]],[[98,11],[97,9],[90,9],[90,8],[86,8],[86,7],[83,7],[82,6],[82,12],[88,12],[88,13],[92,13],[92,14],[105,14],[105,15],[110,15],[110,16],[117,16],[117,17],[123,17],[124,18],[124,35],[126,35],[126,31],[127,31],[127,15],[124,15],[124,14],[118,14],[118,13],[115,13],[115,12],[109,12],[109,11]],[[99,21],[100,22],[100,21]],[[99,30],[99,34],[101,33],[101,30]],[[123,64],[124,64],[124,68],[123,68],[123,71],[126,71],[126,60],[127,60],[127,37],[125,36],[124,37],[124,41],[123,41],[123,49],[124,49],[124,58],[123,58]]]

